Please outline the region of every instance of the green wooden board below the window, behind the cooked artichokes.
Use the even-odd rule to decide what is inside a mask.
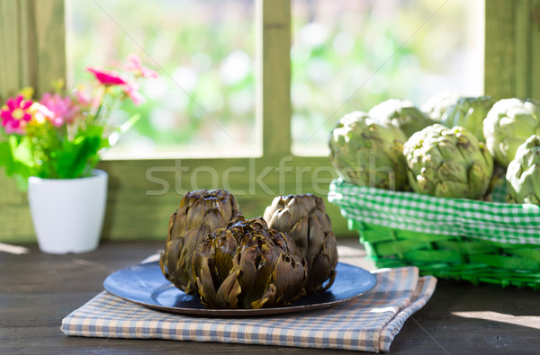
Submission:
[[[105,161],[99,167],[109,173],[103,230],[108,240],[163,238],[168,217],[186,191],[227,188],[247,217],[257,217],[278,194],[311,192],[326,200],[329,182],[337,177],[327,157]],[[0,241],[28,241],[26,205],[0,205],[10,211],[0,213]],[[326,206],[337,235],[356,235],[337,207],[328,201]]]

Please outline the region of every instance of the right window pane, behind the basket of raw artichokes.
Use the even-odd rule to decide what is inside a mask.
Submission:
[[[293,152],[327,155],[349,111],[480,95],[482,1],[293,0]]]

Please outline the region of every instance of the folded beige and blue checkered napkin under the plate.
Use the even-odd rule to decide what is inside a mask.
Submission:
[[[236,342],[302,348],[389,351],[403,323],[428,302],[437,279],[416,267],[374,271],[367,294],[321,310],[260,317],[157,312],[103,291],[62,320],[67,335]]]

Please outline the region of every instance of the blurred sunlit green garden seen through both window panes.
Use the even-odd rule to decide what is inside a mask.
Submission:
[[[99,5],[97,5],[99,4]],[[67,0],[75,81],[131,52],[160,78],[117,151],[251,152],[255,120],[252,0]],[[477,95],[478,4],[467,0],[293,0],[293,147],[327,154],[348,111],[389,98],[421,104],[445,90]]]

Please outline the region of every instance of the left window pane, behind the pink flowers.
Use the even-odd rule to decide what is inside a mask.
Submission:
[[[255,9],[242,0],[67,0],[68,82],[135,53],[157,70],[109,157],[257,155]]]

